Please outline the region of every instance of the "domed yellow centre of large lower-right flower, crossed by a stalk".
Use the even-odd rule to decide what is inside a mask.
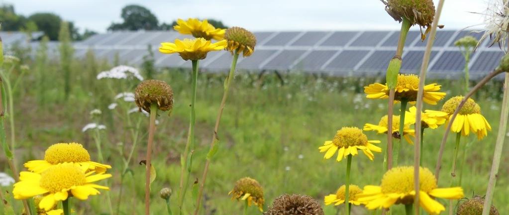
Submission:
[[[414,168],[395,167],[387,171],[382,178],[382,193],[408,194],[414,190]],[[428,168],[420,167],[419,189],[429,193],[437,188],[437,180]]]

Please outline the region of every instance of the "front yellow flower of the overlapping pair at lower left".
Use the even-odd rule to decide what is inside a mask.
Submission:
[[[87,169],[74,164],[51,166],[42,173],[21,172],[19,182],[14,184],[14,198],[28,199],[43,195],[39,208],[52,209],[58,201],[66,200],[71,194],[79,200],[86,200],[91,195],[100,194],[97,189],[109,190],[107,186],[93,182],[111,177],[111,174],[86,172]]]

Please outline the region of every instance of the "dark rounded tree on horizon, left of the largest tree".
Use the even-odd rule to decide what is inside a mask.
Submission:
[[[53,13],[35,13],[29,16],[29,20],[35,22],[37,29],[43,31],[50,40],[59,39],[60,16]]]

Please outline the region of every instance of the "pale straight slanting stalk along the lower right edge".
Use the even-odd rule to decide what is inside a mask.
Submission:
[[[488,181],[488,190],[483,207],[483,215],[490,213],[491,201],[495,191],[495,184],[498,177],[498,168],[500,166],[500,157],[504,145],[504,138],[507,129],[507,114],[509,113],[509,73],[505,73],[504,94],[502,99],[502,112],[500,113],[500,124],[498,127],[497,142],[495,143],[495,152],[493,154],[493,164],[491,165],[490,180]]]

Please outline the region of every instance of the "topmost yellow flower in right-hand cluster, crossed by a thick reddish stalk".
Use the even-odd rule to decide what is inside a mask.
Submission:
[[[445,93],[437,92],[441,85],[429,84],[424,86],[422,100],[428,104],[437,104],[437,101],[445,97]],[[395,101],[408,101],[414,103],[417,100],[417,90],[419,88],[419,76],[414,74],[398,74],[398,85],[395,88]],[[389,88],[387,85],[379,83],[364,87],[366,98],[388,98]]]

